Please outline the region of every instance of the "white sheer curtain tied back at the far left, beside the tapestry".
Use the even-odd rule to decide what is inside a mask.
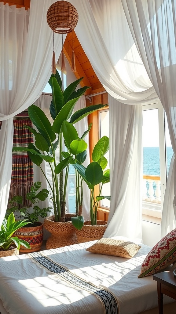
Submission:
[[[12,170],[13,116],[41,94],[51,75],[52,30],[46,13],[53,0],[31,0],[25,8],[0,3],[0,226],[8,203]],[[55,40],[56,58],[62,48]]]

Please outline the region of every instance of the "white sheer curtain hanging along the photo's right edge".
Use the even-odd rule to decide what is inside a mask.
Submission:
[[[173,0],[122,0],[128,24],[158,97],[166,111],[176,154],[176,3]],[[171,231],[176,218],[176,160],[165,192],[161,236]],[[171,164],[172,166],[172,164]],[[173,188],[173,192],[171,190]],[[169,197],[174,198],[169,200]],[[168,210],[169,204],[169,210]]]

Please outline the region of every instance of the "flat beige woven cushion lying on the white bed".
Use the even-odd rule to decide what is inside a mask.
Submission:
[[[112,238],[101,238],[86,251],[96,254],[113,255],[120,257],[133,257],[141,246],[125,240],[116,240]]]

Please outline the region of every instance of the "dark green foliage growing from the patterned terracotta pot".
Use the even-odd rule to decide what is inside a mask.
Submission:
[[[7,216],[16,211],[19,213],[17,214],[17,218],[25,218],[27,219],[32,225],[39,221],[39,216],[45,218],[47,213],[50,212],[52,207],[39,207],[39,201],[45,201],[45,199],[49,195],[49,191],[47,189],[42,189],[38,192],[41,188],[41,182],[35,182],[34,185],[31,187],[30,192],[26,194],[26,199],[28,199],[32,203],[33,211],[30,212],[30,208],[19,208],[19,206],[13,206],[12,208],[8,208],[6,211]],[[38,192],[38,193],[37,193]],[[22,196],[14,196],[12,200],[9,202],[11,205],[14,203],[23,204]]]

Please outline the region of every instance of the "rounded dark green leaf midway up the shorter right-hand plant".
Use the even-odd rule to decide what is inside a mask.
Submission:
[[[101,183],[103,179],[103,171],[101,165],[96,161],[91,162],[85,169],[86,180],[89,181],[93,186]]]

